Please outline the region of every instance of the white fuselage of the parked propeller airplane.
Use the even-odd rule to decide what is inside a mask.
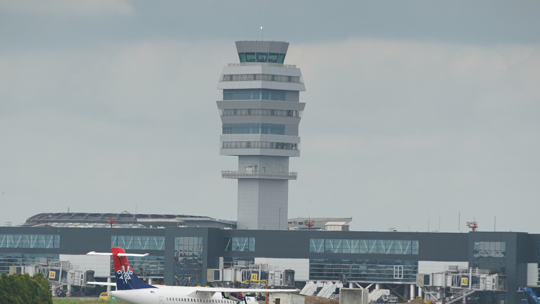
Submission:
[[[109,294],[130,304],[241,304],[238,301],[223,298],[219,292],[198,291],[197,287],[156,287],[158,288],[112,291]],[[257,304],[255,298],[252,297],[246,297],[246,302]]]

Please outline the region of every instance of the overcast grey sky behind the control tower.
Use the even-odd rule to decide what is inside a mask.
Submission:
[[[307,89],[289,218],[540,232],[536,0],[0,0],[0,225],[236,219],[216,87],[261,25]]]

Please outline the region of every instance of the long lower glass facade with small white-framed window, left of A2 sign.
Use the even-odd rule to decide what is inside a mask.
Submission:
[[[414,283],[417,273],[418,261],[309,259],[309,280],[340,280],[341,274],[351,281]]]

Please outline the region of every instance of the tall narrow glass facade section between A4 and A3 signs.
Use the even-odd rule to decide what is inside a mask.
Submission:
[[[203,283],[203,238],[174,238],[174,285],[198,286]]]

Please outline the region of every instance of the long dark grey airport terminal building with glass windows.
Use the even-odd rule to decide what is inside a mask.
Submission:
[[[518,287],[540,286],[540,234],[519,232],[0,227],[0,272],[16,272],[16,266],[48,258],[69,260],[77,269],[95,271],[96,280],[111,280],[109,257],[85,254],[110,252],[114,246],[149,253],[134,258],[132,268],[146,280],[165,285],[215,285],[226,280],[219,269],[262,263],[293,269],[299,288],[310,281],[372,284],[392,290],[402,300],[428,292],[427,286],[434,283],[419,282],[419,274],[457,268],[503,275],[505,280],[490,296],[506,303],[521,299]],[[470,287],[477,288],[474,275],[469,278]]]

